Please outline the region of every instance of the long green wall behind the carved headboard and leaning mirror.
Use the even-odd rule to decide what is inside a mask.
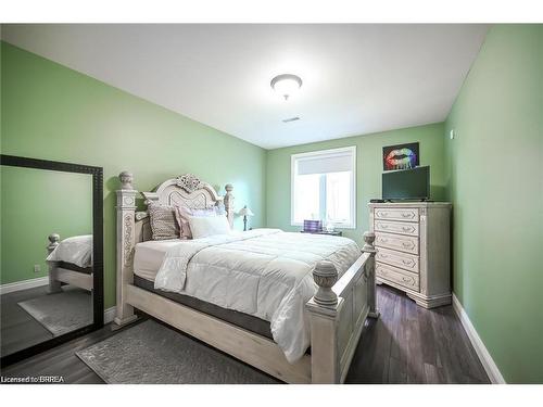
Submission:
[[[222,193],[231,182],[237,207],[247,204],[252,225],[264,225],[265,150],[7,42],[1,48],[1,152],[104,168],[105,307],[115,302],[122,170],[134,173],[140,191],[189,171]]]

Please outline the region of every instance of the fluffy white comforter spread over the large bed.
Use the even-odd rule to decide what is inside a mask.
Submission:
[[[171,247],[154,288],[269,321],[275,342],[294,363],[310,345],[304,306],[317,290],[315,265],[331,260],[342,276],[359,255],[346,238],[279,229],[220,234]]]

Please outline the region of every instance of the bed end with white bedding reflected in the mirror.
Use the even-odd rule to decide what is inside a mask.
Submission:
[[[92,291],[92,234],[61,240],[51,233],[48,239],[49,292],[61,292],[62,283]]]

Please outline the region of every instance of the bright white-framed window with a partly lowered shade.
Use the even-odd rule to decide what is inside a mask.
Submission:
[[[291,225],[323,220],[339,228],[356,227],[356,147],[291,156]]]

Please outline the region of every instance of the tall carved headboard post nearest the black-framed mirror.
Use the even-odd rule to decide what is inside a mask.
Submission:
[[[118,176],[121,189],[117,190],[117,309],[113,322],[117,326],[130,323],[137,319],[134,307],[126,303],[127,284],[134,282],[134,245],[136,226],[136,191],[132,188],[131,173],[123,171]]]

